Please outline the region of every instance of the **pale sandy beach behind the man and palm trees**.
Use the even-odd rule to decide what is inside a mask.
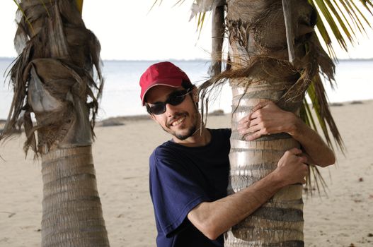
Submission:
[[[373,100],[331,110],[347,152],[336,151],[337,164],[321,169],[327,194],[304,195],[305,246],[373,246]],[[115,121],[124,125],[97,126],[93,143],[110,243],[155,246],[148,159],[170,137],[147,118]],[[207,119],[209,128],[229,125],[229,114]],[[40,246],[41,164],[32,152],[25,159],[23,135],[0,147],[0,246]]]

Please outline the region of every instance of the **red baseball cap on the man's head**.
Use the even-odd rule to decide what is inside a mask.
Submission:
[[[181,87],[183,81],[190,83],[186,73],[169,61],[153,64],[147,68],[140,78],[142,105],[145,104],[145,95],[156,85],[166,85],[173,88]],[[192,85],[192,83],[190,83]]]

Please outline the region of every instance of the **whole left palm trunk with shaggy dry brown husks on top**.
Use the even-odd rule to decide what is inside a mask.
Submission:
[[[103,87],[100,44],[81,19],[81,4],[19,3],[14,95],[0,140],[21,123],[25,152],[31,147],[42,158],[43,247],[109,246],[91,153]]]

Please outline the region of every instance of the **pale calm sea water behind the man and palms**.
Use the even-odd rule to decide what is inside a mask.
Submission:
[[[6,68],[13,59],[0,58],[0,119],[6,119],[13,92],[5,78]],[[139,94],[139,77],[151,64],[158,61],[103,61],[105,86],[101,99],[99,119],[113,116],[146,114]],[[207,80],[208,61],[172,61],[199,85]],[[337,87],[325,84],[330,102],[350,102],[373,99],[373,60],[341,60],[336,65]],[[222,92],[209,107],[209,112],[222,109],[231,112],[231,90],[224,85]]]

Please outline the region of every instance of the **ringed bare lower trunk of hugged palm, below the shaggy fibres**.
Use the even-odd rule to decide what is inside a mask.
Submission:
[[[263,100],[277,101],[285,92],[284,86],[265,83],[248,88],[232,86],[234,111],[231,127],[231,164],[229,193],[267,176],[277,167],[286,150],[299,147],[287,134],[267,135],[251,142],[241,140],[236,123],[247,116]],[[297,109],[293,109],[293,112]],[[226,246],[303,246],[302,185],[282,188],[268,203],[250,217],[232,227],[226,234]]]

